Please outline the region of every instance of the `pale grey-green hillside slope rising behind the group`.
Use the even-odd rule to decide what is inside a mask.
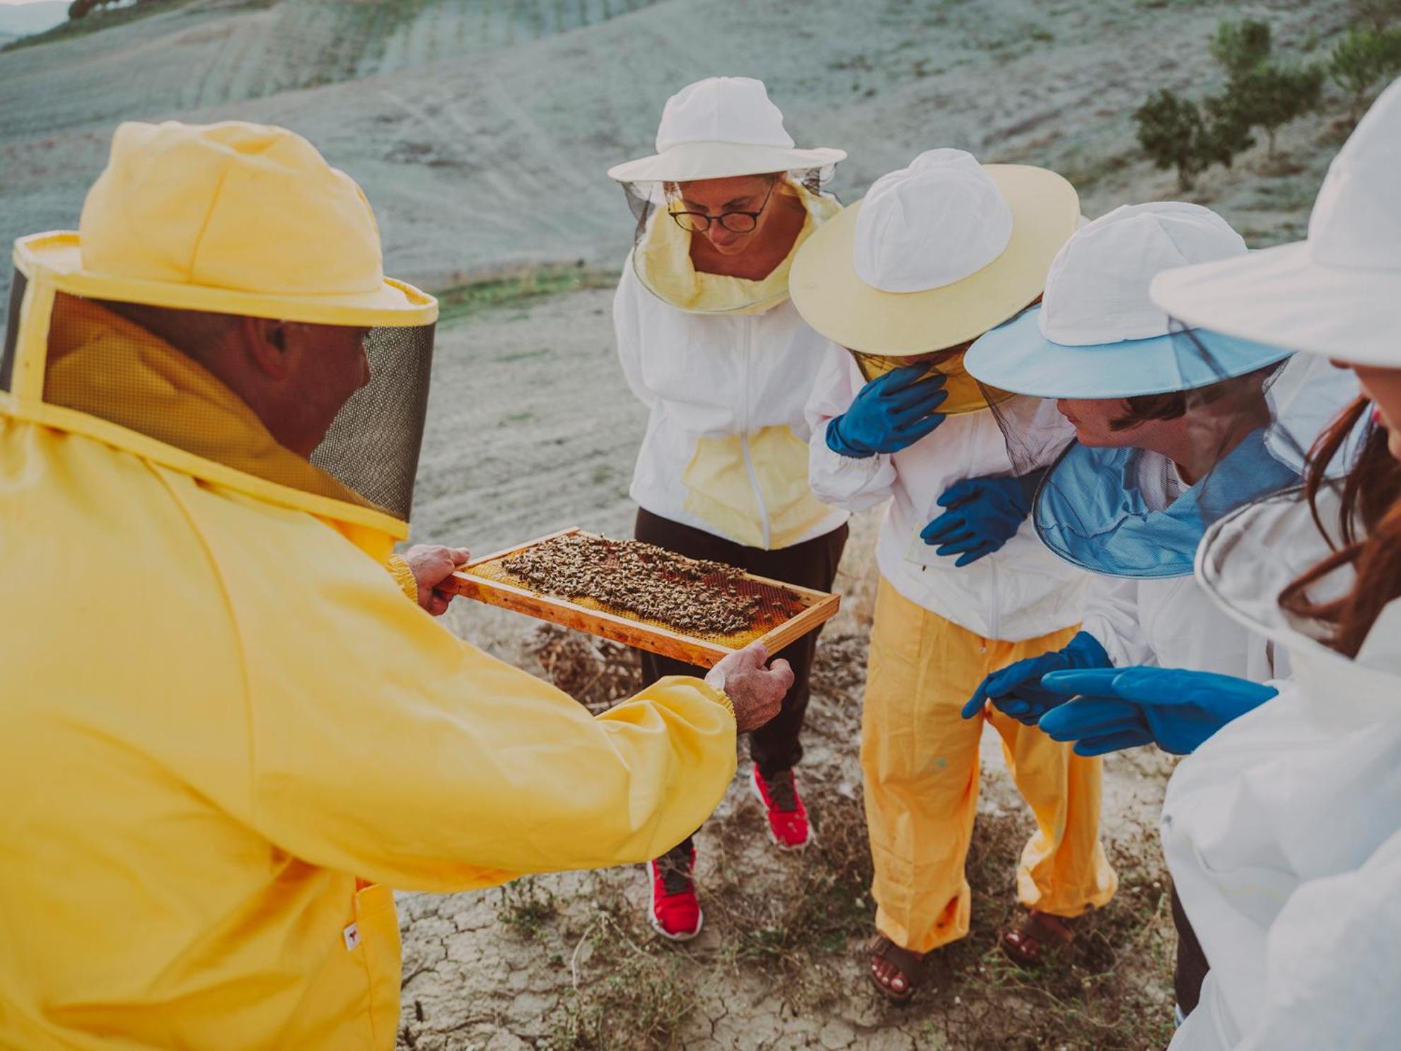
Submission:
[[[961,146],[1058,167],[1097,214],[1175,192],[1135,158],[1129,114],[1160,85],[1213,85],[1206,41],[1247,14],[1288,50],[1327,45],[1346,3],[205,0],[0,53],[0,241],[76,220],[116,121],[245,118],[303,132],[353,172],[408,277],[616,262],[630,220],[604,170],[647,151],[665,95],[713,73],[765,78],[794,137],[848,149],[846,198],[918,150]],[[354,78],[275,90],[336,69]],[[1286,132],[1300,170],[1271,200],[1248,168],[1201,196],[1258,237],[1289,235],[1281,220],[1297,223],[1335,149],[1320,128]]]

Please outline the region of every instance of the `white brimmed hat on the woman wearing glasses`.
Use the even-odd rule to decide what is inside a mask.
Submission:
[[[708,77],[667,99],[651,157],[615,164],[618,182],[688,182],[771,171],[825,168],[845,150],[799,150],[764,81]]]

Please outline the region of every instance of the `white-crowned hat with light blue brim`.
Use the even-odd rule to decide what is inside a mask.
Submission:
[[[984,383],[1042,398],[1131,398],[1205,387],[1289,356],[1274,345],[1196,332],[1206,356],[1174,346],[1167,312],[1149,298],[1167,269],[1241,259],[1248,249],[1201,205],[1125,205],[1066,241],[1041,305],[982,336],[968,371]]]

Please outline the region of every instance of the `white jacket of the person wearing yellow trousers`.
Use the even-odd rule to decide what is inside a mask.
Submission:
[[[820,497],[852,511],[890,500],[876,561],[891,586],[986,639],[1020,642],[1079,622],[1089,575],[1042,547],[1030,523],[1000,551],[962,568],[919,538],[943,513],[936,500],[950,485],[1013,474],[992,411],[948,416],[891,455],[843,457],[828,448],[827,425],[850,408],[863,384],[850,355],[829,345],[807,411],[810,481]]]

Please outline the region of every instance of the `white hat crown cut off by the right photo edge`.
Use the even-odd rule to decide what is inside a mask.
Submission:
[[[1328,165],[1309,217],[1309,249],[1324,266],[1401,270],[1401,80]]]

